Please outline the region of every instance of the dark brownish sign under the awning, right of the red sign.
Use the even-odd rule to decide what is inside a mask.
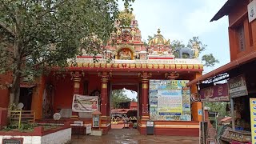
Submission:
[[[239,75],[235,78],[230,78],[228,81],[230,98],[236,98],[248,95],[246,87],[246,78],[244,75]]]

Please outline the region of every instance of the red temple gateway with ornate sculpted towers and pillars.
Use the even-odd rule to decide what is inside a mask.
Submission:
[[[202,105],[190,101],[196,86],[186,87],[187,82],[202,75],[198,50],[179,48],[175,57],[170,40],[159,29],[144,45],[134,15],[122,12],[120,17],[130,20],[130,25],[115,22],[117,30],[103,54],[94,57],[82,50],[66,72],[52,70],[40,78],[31,96],[36,119],[43,121],[59,113],[63,121],[93,124],[92,112],[98,110],[98,127],[107,133],[111,129],[111,91],[126,88],[138,93],[141,134],[146,134],[147,122],[154,121],[154,134],[198,136]],[[182,58],[183,54],[188,57]],[[88,105],[83,96],[91,97],[90,110],[82,107]],[[78,110],[79,106],[84,110]]]

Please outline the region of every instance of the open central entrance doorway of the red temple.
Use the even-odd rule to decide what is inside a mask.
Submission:
[[[110,86],[111,129],[136,128],[139,115],[139,86],[114,83]]]

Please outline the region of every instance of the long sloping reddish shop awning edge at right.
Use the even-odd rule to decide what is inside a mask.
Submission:
[[[245,55],[245,56],[243,56],[241,58],[238,58],[237,60],[234,60],[233,62],[227,63],[226,65],[221,66],[221,67],[219,67],[216,70],[210,71],[209,73],[204,74],[201,77],[196,78],[196,79],[194,79],[191,82],[188,82],[186,84],[186,86],[191,86],[191,85],[194,85],[194,84],[196,84],[198,82],[202,82],[202,81],[206,80],[207,78],[214,77],[214,76],[216,76],[218,74],[226,73],[228,70],[232,70],[232,69],[234,69],[234,68],[236,68],[238,66],[242,66],[243,64],[246,64],[247,62],[251,62],[251,61],[253,61],[255,59],[256,59],[256,51],[252,52],[250,54],[247,54],[247,55]]]

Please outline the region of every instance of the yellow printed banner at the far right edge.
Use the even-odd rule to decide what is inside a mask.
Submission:
[[[256,142],[256,98],[250,98],[250,131],[251,142]]]

